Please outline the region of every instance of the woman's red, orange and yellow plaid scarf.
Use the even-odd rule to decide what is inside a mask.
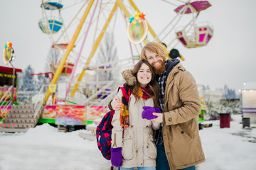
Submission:
[[[127,94],[123,94],[122,96],[122,107],[120,110],[120,123],[124,128],[129,127],[129,110],[128,110],[128,102],[129,102],[129,96],[132,94],[135,94],[139,96],[140,98],[151,98],[154,96],[153,91],[150,89],[146,89],[143,87],[139,87],[138,91],[134,91],[134,86],[129,86],[127,84],[124,84],[124,89],[127,92]],[[128,96],[128,97],[127,97]],[[127,101],[128,98],[128,101]]]

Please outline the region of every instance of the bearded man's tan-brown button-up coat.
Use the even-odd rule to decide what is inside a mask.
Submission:
[[[198,130],[201,103],[196,81],[181,63],[166,79],[163,138],[170,169],[205,161]]]

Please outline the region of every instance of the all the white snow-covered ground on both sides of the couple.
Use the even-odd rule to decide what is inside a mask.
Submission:
[[[200,130],[206,162],[197,170],[256,169],[256,124],[242,129],[241,116],[232,115],[230,128]],[[48,124],[26,133],[0,133],[0,170],[107,170],[110,162],[102,157],[97,142],[84,140],[79,132],[58,132]]]

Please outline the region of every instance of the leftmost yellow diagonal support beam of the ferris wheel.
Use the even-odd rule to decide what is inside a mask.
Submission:
[[[65,65],[66,60],[68,59],[68,55],[70,54],[70,51],[73,50],[73,47],[75,45],[75,40],[77,40],[78,35],[80,33],[80,30],[82,29],[82,25],[83,23],[85,23],[85,19],[87,18],[88,13],[90,12],[90,8],[92,8],[92,4],[95,0],[90,0],[89,4],[87,5],[87,8],[85,9],[85,13],[83,14],[80,23],[78,25],[78,28],[75,30],[75,33],[73,35],[72,40],[70,41],[70,43],[68,44],[67,50],[65,51],[65,55],[63,56],[63,59],[61,60],[60,64],[58,65],[58,69],[56,70],[52,81],[50,82],[50,84],[56,84],[58,77],[60,77],[60,74],[63,70],[63,67]],[[46,102],[48,101],[48,98],[50,96],[51,92],[50,89],[48,89],[48,91],[46,92],[46,96],[45,99],[43,101],[43,105],[46,105]]]

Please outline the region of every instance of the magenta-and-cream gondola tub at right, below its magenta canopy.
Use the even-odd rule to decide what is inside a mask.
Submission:
[[[176,38],[188,48],[202,47],[213,37],[213,27],[210,24],[196,26],[194,33],[189,34],[185,29],[176,32]]]

